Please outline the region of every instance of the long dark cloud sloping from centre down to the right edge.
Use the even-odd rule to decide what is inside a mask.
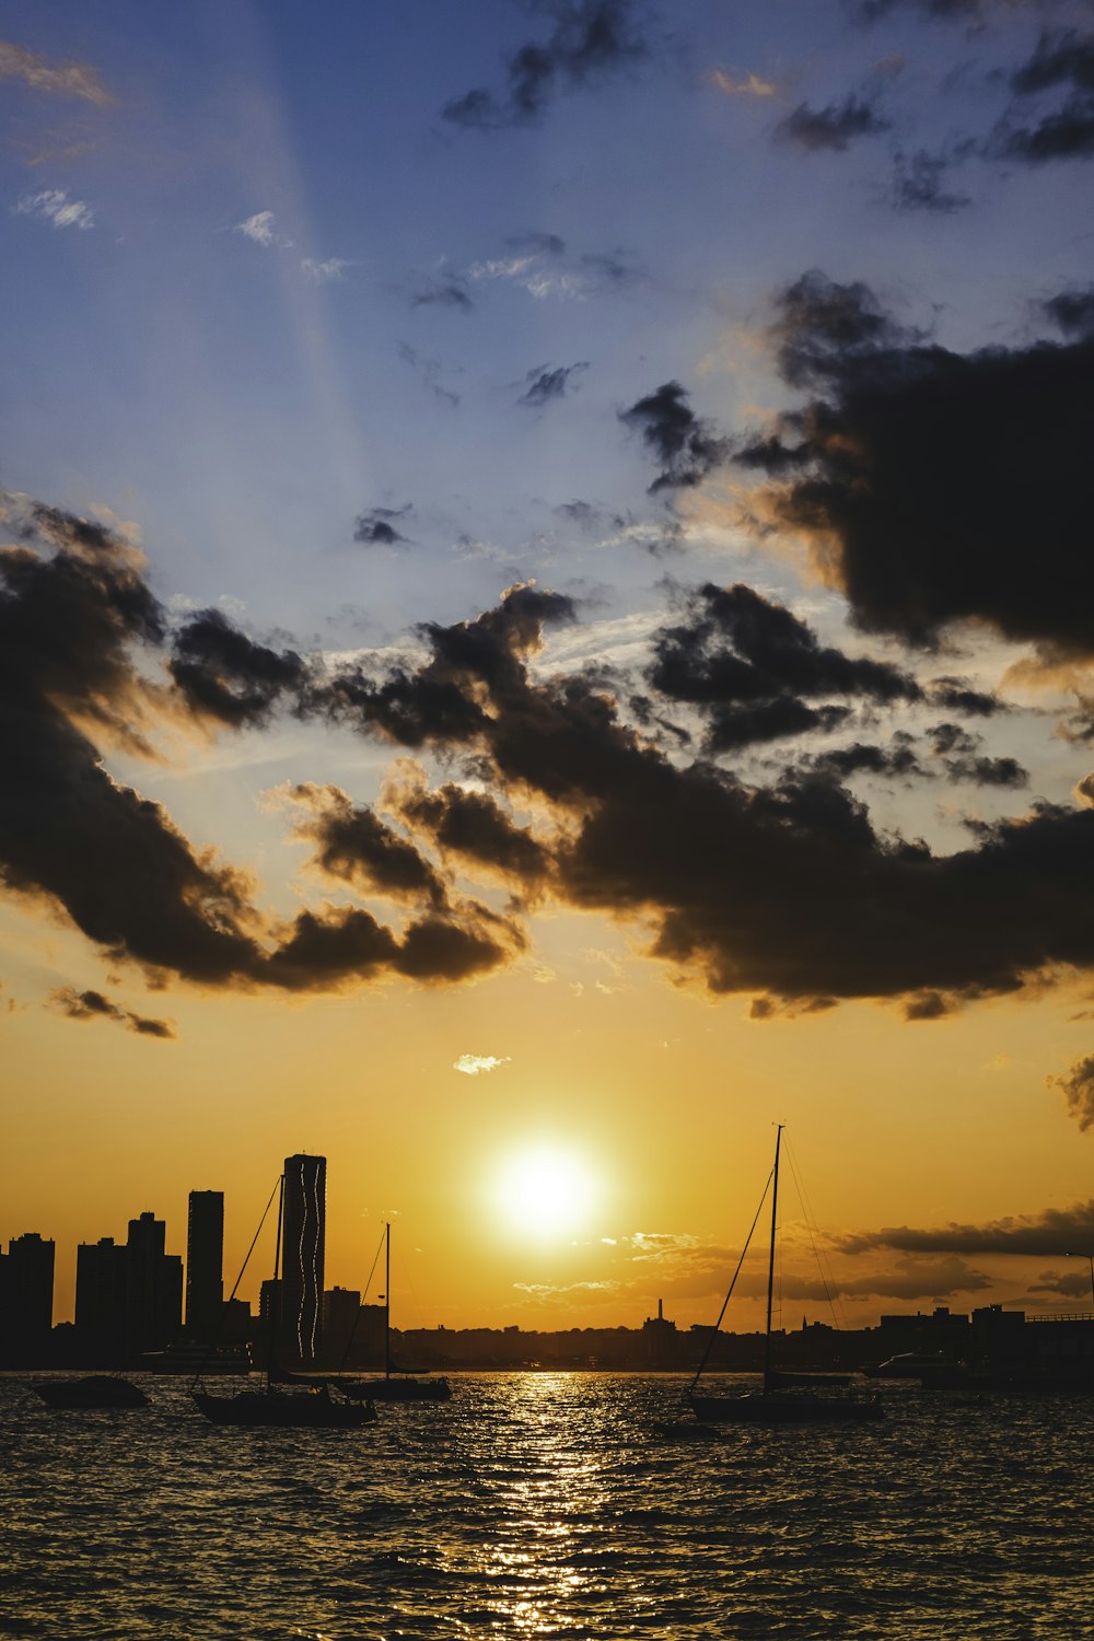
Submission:
[[[594,673],[531,681],[543,619],[569,614],[540,597],[517,622],[504,604],[423,629],[430,653],[400,674],[400,709],[418,745],[461,748],[499,793],[556,811],[561,901],[646,921],[651,955],[713,993],[797,1006],[935,993],[943,1012],[1094,963],[1094,811],[1035,804],[935,857],[876,835],[822,770],[751,788],[702,760],[679,766],[620,720]],[[476,697],[454,724],[435,712],[444,686]],[[359,725],[408,743],[374,707]]]

